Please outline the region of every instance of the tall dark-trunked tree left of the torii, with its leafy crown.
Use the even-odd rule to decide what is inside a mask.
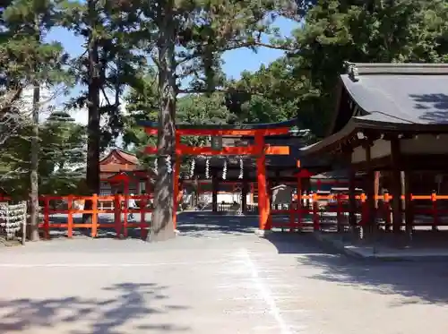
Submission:
[[[73,59],[73,73],[86,90],[72,102],[88,109],[86,183],[90,194],[99,193],[99,152],[119,134],[120,96],[144,60],[129,43],[129,34],[138,27],[139,13],[125,2],[100,0],[66,0],[61,7],[65,27],[85,39],[85,52]],[[101,119],[104,124],[100,124]],[[87,201],[86,207],[90,206]]]

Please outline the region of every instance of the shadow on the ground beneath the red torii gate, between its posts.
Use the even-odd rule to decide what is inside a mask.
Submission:
[[[177,215],[177,229],[183,236],[201,237],[217,233],[241,236],[254,234],[256,217],[213,214],[211,211],[182,212]]]

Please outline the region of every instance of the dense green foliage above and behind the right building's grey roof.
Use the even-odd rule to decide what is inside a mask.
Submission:
[[[244,122],[297,115],[317,137],[327,134],[344,61],[438,63],[448,55],[446,1],[317,0],[299,4],[304,24],[288,55],[231,82],[228,107]]]

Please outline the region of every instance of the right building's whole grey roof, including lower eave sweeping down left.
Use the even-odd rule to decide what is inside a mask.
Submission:
[[[347,68],[340,91],[348,93],[358,112],[303,152],[320,151],[357,129],[448,133],[448,64],[347,63]],[[336,117],[347,112],[342,109]]]

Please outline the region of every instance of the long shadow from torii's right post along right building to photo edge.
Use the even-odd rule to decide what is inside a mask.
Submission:
[[[383,295],[397,295],[391,306],[448,304],[448,266],[440,261],[382,261],[335,253],[311,233],[266,236],[279,253],[297,254],[299,266],[312,267],[308,278]]]

